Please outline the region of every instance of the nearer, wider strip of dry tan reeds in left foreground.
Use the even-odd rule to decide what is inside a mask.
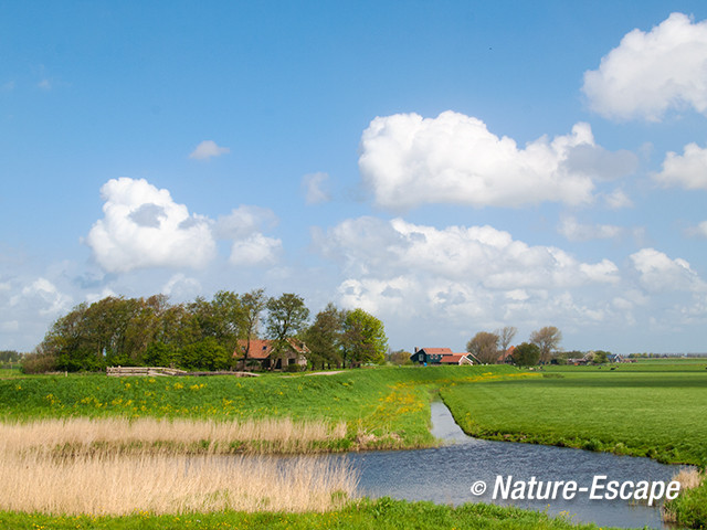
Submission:
[[[129,515],[325,511],[355,496],[342,459],[263,456],[2,455],[0,509]]]

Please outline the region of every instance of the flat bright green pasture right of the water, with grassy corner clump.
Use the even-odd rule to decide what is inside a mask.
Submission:
[[[551,367],[537,379],[445,386],[468,434],[707,465],[707,362]],[[707,481],[666,505],[680,524],[707,526]]]

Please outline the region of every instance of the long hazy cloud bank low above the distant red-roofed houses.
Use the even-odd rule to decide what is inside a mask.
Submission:
[[[342,266],[342,305],[398,320],[424,317],[447,329],[541,316],[601,321],[609,315],[606,301],[593,293],[610,293],[621,279],[609,259],[583,263],[488,225],[440,230],[366,216],[315,240],[325,256]],[[581,300],[583,290],[594,306]]]

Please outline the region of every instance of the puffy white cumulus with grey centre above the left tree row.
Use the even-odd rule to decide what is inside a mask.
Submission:
[[[104,269],[201,268],[215,256],[211,222],[190,214],[168,190],[124,177],[105,183],[101,194],[104,219],[85,241]]]

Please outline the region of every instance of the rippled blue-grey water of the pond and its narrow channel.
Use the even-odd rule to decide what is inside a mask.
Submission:
[[[551,447],[544,445],[489,442],[465,435],[454,423],[450,411],[432,403],[432,434],[445,445],[431,449],[370,452],[344,456],[360,473],[360,494],[367,497],[389,496],[405,500],[431,500],[437,504],[511,501],[493,500],[497,475],[511,475],[515,480],[574,480],[591,486],[595,475],[608,480],[669,481],[678,466],[666,466],[648,458],[616,456],[609,453]],[[476,480],[487,484],[481,497],[471,494]],[[519,508],[540,510],[549,515],[568,512],[573,521],[622,528],[667,529],[658,507],[632,506],[625,500],[589,500],[589,494],[578,494],[572,500],[559,496],[556,500],[514,500]]]

